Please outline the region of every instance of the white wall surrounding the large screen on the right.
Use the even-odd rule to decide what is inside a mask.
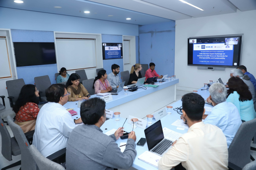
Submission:
[[[256,76],[256,10],[216,15],[210,17],[191,18],[176,21],[175,28],[175,76],[179,78],[178,90],[192,91],[203,87],[209,80],[219,78],[227,82],[229,72],[217,70],[197,70],[197,66],[188,66],[188,38],[199,36],[215,36],[244,34],[242,45],[242,62],[247,71]]]

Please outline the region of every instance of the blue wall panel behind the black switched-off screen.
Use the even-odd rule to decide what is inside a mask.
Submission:
[[[11,29],[13,42],[54,42],[52,31],[32,31]],[[55,84],[57,64],[44,64],[16,67],[18,78],[23,78],[25,84],[34,84],[34,78],[48,75],[51,83]]]

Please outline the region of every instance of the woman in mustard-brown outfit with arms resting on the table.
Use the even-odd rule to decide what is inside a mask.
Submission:
[[[80,76],[72,73],[66,83],[66,89],[70,93],[68,101],[87,100],[90,97],[89,92],[80,83]]]

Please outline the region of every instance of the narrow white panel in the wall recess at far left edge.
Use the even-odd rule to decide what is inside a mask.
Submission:
[[[0,78],[12,77],[6,39],[0,39]]]

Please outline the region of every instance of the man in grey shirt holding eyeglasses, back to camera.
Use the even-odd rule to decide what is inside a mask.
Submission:
[[[123,136],[122,128],[107,136],[100,127],[106,121],[105,101],[92,98],[81,104],[80,115],[83,125],[77,126],[70,134],[66,152],[67,170],[113,170],[128,169],[136,157],[135,132],[129,134],[124,152],[116,144]]]

